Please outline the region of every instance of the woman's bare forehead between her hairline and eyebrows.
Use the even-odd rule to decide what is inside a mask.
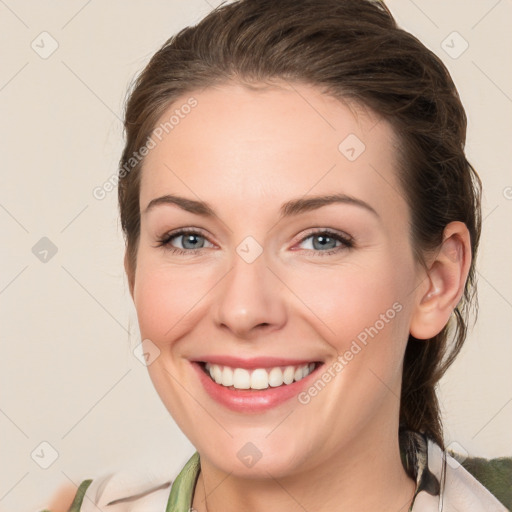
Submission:
[[[193,105],[193,107],[190,107]],[[140,205],[179,193],[219,207],[272,207],[343,192],[405,211],[391,126],[304,84],[226,84],[175,101],[152,135]],[[400,203],[400,204],[397,204]]]

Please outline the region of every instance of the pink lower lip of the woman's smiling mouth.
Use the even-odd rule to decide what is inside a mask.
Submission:
[[[267,389],[234,389],[221,386],[206,375],[199,363],[192,363],[199,375],[204,389],[215,401],[236,412],[257,413],[262,412],[296,397],[306,387],[319,367],[315,368],[307,377],[292,384],[283,384]]]

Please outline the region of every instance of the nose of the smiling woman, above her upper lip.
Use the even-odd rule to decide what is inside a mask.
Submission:
[[[251,263],[235,253],[231,269],[216,288],[214,321],[233,336],[252,340],[285,325],[284,285],[269,268],[265,252]]]

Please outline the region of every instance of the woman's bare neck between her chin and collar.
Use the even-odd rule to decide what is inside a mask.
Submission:
[[[407,512],[415,488],[400,459],[398,430],[381,428],[359,434],[321,466],[285,478],[240,478],[201,460],[193,506],[197,512]]]

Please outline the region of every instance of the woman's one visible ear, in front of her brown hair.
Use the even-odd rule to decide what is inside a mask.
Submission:
[[[464,293],[471,258],[468,228],[463,222],[450,222],[444,229],[441,247],[428,262],[426,277],[418,287],[410,326],[415,338],[432,338],[448,323]]]

